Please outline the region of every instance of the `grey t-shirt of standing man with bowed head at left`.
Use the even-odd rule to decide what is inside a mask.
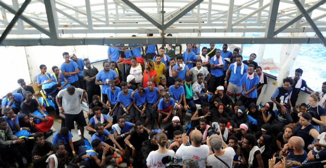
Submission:
[[[67,89],[60,90],[58,97],[62,98],[61,107],[65,114],[79,114],[82,111],[81,97],[83,90],[75,88],[75,93],[70,95]]]

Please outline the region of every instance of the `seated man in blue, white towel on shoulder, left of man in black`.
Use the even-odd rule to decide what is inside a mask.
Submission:
[[[112,126],[114,139],[117,140],[120,146],[124,147],[124,138],[130,133],[130,129],[135,124],[125,121],[124,116],[118,117],[118,123]]]

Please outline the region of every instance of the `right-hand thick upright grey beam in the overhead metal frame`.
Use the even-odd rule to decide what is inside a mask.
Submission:
[[[266,27],[265,36],[267,38],[272,38],[274,36],[274,30],[276,25],[276,19],[278,14],[278,9],[280,5],[280,0],[272,0],[272,5],[269,7],[269,20],[268,20],[268,27]]]

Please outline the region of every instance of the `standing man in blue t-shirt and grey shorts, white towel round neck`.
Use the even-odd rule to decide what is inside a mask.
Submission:
[[[243,90],[241,79],[247,70],[248,66],[242,63],[242,55],[237,55],[236,62],[230,65],[224,81],[224,87],[227,88],[226,93],[230,98],[236,94],[236,99],[239,100]],[[227,84],[228,82],[229,84]]]

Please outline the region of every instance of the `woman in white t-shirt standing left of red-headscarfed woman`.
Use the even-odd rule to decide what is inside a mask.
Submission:
[[[136,57],[130,57],[131,64],[127,67],[125,76],[133,75],[135,77],[135,85],[137,86],[143,80],[144,66],[136,62]]]

